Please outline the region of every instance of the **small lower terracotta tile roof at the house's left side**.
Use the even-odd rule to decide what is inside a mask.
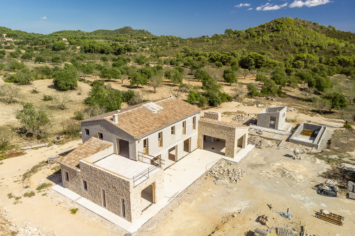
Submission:
[[[91,137],[90,140],[84,142],[84,144],[81,144],[76,149],[63,156],[63,158],[60,158],[58,163],[65,165],[65,167],[69,167],[70,169],[74,169],[75,171],[79,171],[80,160],[83,160],[84,158],[100,151],[104,151],[104,149],[108,149],[112,145],[113,144],[111,142]]]

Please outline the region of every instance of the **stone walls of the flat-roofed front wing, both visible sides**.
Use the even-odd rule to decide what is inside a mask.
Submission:
[[[106,195],[106,208],[110,212],[122,216],[122,200],[125,199],[125,212],[127,221],[134,221],[141,216],[141,191],[148,185],[155,183],[155,201],[158,203],[164,198],[164,171],[156,169],[150,178],[134,186],[132,180],[120,178],[116,174],[99,169],[87,162],[80,162],[80,171],[74,171],[61,165],[63,187],[84,196],[84,198],[102,206],[101,189]],[[65,180],[64,171],[69,173],[69,182]],[[86,180],[88,190],[84,189],[83,180]]]

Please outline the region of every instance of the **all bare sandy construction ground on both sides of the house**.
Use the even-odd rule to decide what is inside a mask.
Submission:
[[[238,110],[255,114],[262,108],[232,102],[223,103],[221,108],[213,110]],[[297,112],[287,112],[287,118],[294,119],[294,124],[304,120],[334,128],[342,126],[339,120]],[[222,120],[232,121],[228,115],[223,115]],[[343,140],[344,138],[337,136],[341,142],[338,144],[334,140],[332,145],[346,144],[349,150],[345,151],[352,153],[354,157],[354,148],[350,150],[354,140]],[[26,171],[38,162],[47,160],[49,155],[74,149],[79,144],[81,140],[30,149],[26,150],[24,155],[0,162],[0,235],[127,233],[54,192],[50,187],[36,190],[42,183],[54,185],[61,181],[56,164],[42,165],[37,171],[33,171],[29,178],[23,178]],[[318,236],[353,235],[355,201],[346,199],[344,189],[338,198],[320,196],[312,189],[318,183],[324,182],[320,174],[331,166],[324,160],[306,153],[300,154],[301,160],[293,160],[293,149],[301,150],[299,145],[289,142],[283,142],[281,148],[276,145],[275,142],[271,147],[253,149],[241,162],[231,163],[230,168],[245,171],[243,176],[238,178],[238,183],[214,181],[215,179],[207,174],[201,176],[134,235],[251,235],[255,228],[267,228],[255,222],[262,214],[269,218],[270,227],[295,228],[299,232],[300,226],[306,225],[308,233]],[[344,149],[342,146],[341,149]],[[340,153],[340,146],[336,148],[336,153]],[[326,153],[333,153],[329,150]],[[36,194],[31,197],[24,196],[31,191]],[[267,204],[271,204],[275,211],[270,210]],[[76,214],[71,214],[70,210],[76,208]],[[292,219],[284,219],[277,213],[286,212],[287,208],[290,208]],[[343,226],[317,219],[315,212],[321,209],[345,217]]]

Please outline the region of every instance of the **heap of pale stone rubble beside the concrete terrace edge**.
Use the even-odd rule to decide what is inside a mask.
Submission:
[[[216,183],[216,185],[239,183],[244,174],[245,171],[243,169],[231,167],[225,162],[222,162],[207,171],[207,176],[214,178],[214,183]]]

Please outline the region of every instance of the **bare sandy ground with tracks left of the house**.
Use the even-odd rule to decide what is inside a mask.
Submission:
[[[55,165],[46,165],[27,180],[22,180],[22,174],[42,160],[47,160],[49,155],[62,153],[74,149],[81,140],[68,142],[59,146],[49,146],[37,150],[26,151],[26,155],[1,161],[0,165],[0,209],[7,212],[6,219],[18,226],[31,223],[36,227],[44,228],[47,235],[52,232],[55,235],[123,235],[125,232],[113,224],[93,214],[77,203],[66,199],[61,194],[47,189],[36,191],[40,183],[52,183],[60,176],[51,176]],[[49,176],[49,177],[48,177]],[[49,180],[51,179],[51,180]],[[36,192],[35,196],[26,198],[25,192]],[[9,199],[7,194],[22,196],[17,203],[15,199]],[[42,194],[45,194],[43,196]],[[79,208],[77,214],[71,214],[70,209]],[[1,218],[1,214],[0,214]],[[0,228],[1,229],[1,228]],[[0,232],[0,235],[2,233]]]

